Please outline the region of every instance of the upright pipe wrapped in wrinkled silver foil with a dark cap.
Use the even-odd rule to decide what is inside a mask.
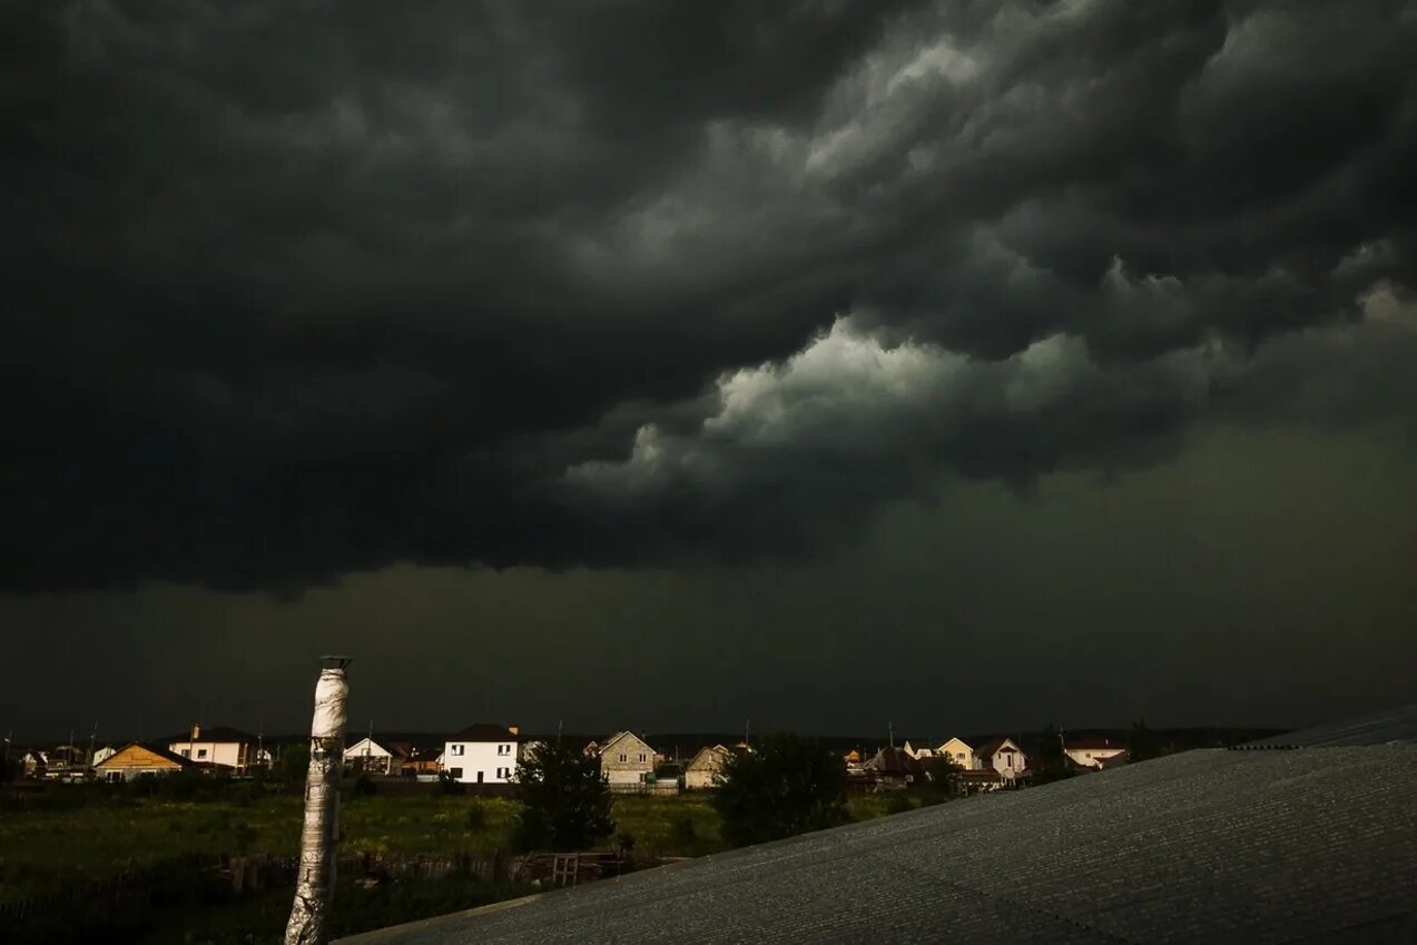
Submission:
[[[285,927],[285,945],[326,945],[330,900],[334,895],[334,849],[339,829],[340,768],[344,755],[344,704],[349,656],[322,656],[324,669],[315,684],[310,721],[310,768],[305,775],[305,826],[300,830],[300,871],[295,902]]]

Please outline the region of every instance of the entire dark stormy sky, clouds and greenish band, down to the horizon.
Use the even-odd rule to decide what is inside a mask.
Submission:
[[[17,737],[1417,697],[1417,3],[0,35]]]

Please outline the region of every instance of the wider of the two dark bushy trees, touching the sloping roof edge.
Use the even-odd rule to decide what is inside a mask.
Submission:
[[[730,843],[761,843],[846,823],[846,766],[815,741],[768,735],[730,755],[713,805]]]

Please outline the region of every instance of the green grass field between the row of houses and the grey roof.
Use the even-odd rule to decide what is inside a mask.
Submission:
[[[173,800],[64,791],[47,796],[43,805],[0,810],[0,901],[55,893],[186,853],[293,856],[298,851],[302,800],[295,792],[254,799],[235,795]],[[854,820],[867,820],[918,800],[905,802],[904,795],[864,796],[853,798],[849,806]],[[517,802],[500,798],[349,796],[340,806],[340,850],[391,857],[493,850],[506,854],[513,850],[519,809]],[[616,834],[633,837],[633,854],[640,863],[727,847],[718,815],[701,793],[618,796],[614,817]],[[608,849],[618,842],[619,836],[601,846]],[[530,891],[526,885],[466,878],[363,888],[354,878],[343,877],[336,900],[334,931],[340,935]],[[174,905],[154,910],[143,918],[142,928],[126,928],[123,941],[278,942],[289,910],[286,888],[205,907]]]

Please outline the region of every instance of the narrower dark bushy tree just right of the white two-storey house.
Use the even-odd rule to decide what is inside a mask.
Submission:
[[[517,843],[526,849],[584,850],[615,833],[601,759],[546,742],[517,765]]]

